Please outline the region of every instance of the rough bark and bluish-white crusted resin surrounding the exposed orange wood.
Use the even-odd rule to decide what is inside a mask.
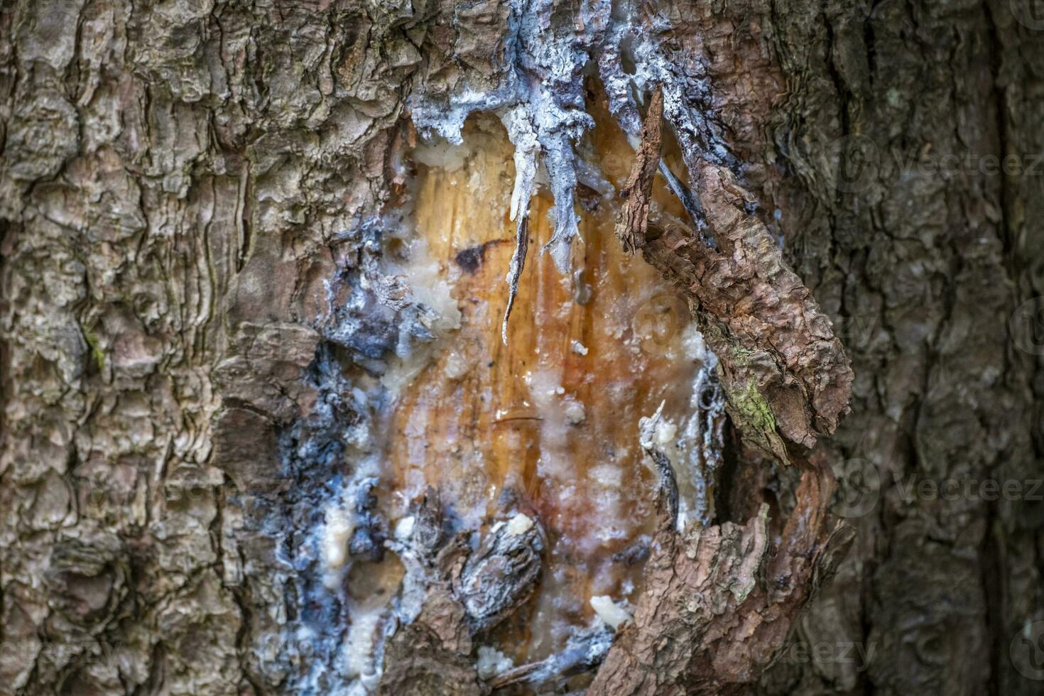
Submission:
[[[1044,620],[1033,484],[1044,341],[1031,323],[1044,295],[1044,20],[1030,5],[635,11],[669,58],[642,63],[636,49],[641,69],[673,78],[664,159],[682,161],[695,192],[668,182],[689,219],[660,224],[644,251],[664,268],[684,257],[682,278],[744,259],[779,271],[768,294],[789,293],[781,306],[742,306],[764,296],[756,285],[689,286],[697,313],[721,321],[708,340],[723,367],[740,370],[727,391],[745,441],[797,466],[733,442],[717,524],[661,525],[652,592],[591,693],[1040,692],[1010,649]],[[487,626],[468,598],[481,604],[489,585],[468,590],[454,572],[531,575],[530,551],[450,543],[464,565],[349,679],[338,659],[365,583],[331,599],[312,534],[356,477],[353,557],[394,573],[388,550],[447,543],[419,538],[422,525],[396,551],[365,485],[387,426],[373,377],[437,332],[381,265],[401,225],[387,203],[409,195],[412,124],[452,138],[468,114],[500,110],[521,269],[535,153],[556,200],[580,188],[569,143],[590,126],[591,56],[590,79],[639,137],[607,7],[0,2],[0,693],[500,686],[469,654]],[[549,247],[568,266],[575,211],[556,209]],[[694,247],[704,234],[718,246]],[[772,313],[796,305],[800,320]],[[824,315],[855,375],[839,427],[847,365]],[[786,328],[801,340],[766,347]],[[767,358],[742,365],[740,349]],[[752,381],[760,395],[743,408]],[[754,417],[766,412],[769,425]],[[844,561],[828,553],[845,541],[825,514],[828,467],[846,501],[860,496],[844,506],[857,532]],[[911,477],[1016,481],[1022,495],[907,495]],[[742,562],[716,566],[722,549]],[[491,617],[524,602],[529,575]],[[603,643],[583,644],[596,658],[544,666],[593,669]],[[520,688],[516,676],[502,686]]]

